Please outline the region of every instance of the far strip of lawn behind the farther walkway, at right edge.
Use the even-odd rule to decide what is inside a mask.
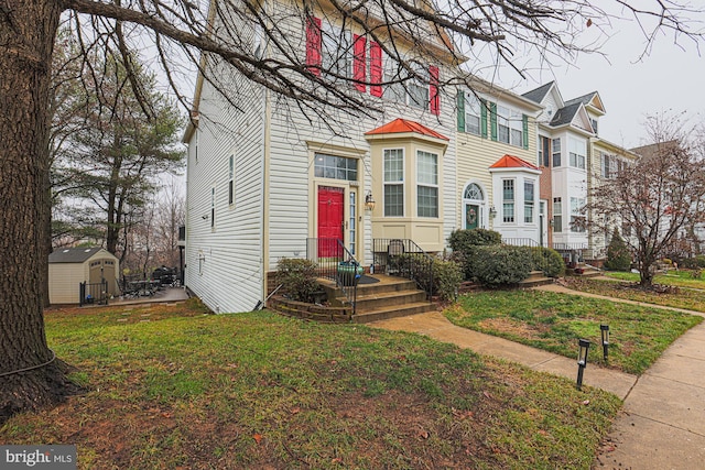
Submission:
[[[628,273],[620,273],[628,274]],[[638,275],[632,274],[637,276]],[[647,304],[662,305],[665,307],[684,308],[686,310],[705,311],[705,291],[680,287],[679,284],[670,284],[664,281],[673,281],[657,276],[657,282],[679,287],[677,293],[657,293],[639,288],[634,283],[619,283],[617,281],[566,277],[570,288],[606,295],[608,297],[625,298],[628,300],[644,302]],[[702,281],[698,281],[704,284]]]

